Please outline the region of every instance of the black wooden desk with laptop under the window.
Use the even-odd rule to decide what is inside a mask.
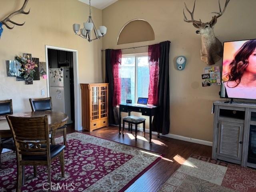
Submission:
[[[141,104],[120,104],[119,105],[119,134],[121,134],[121,112],[127,112],[129,116],[131,111],[142,113],[144,116],[149,116],[149,142],[151,143],[152,139],[152,116],[157,114],[158,106],[154,105],[141,105]],[[160,138],[159,128],[157,130],[157,138]]]

